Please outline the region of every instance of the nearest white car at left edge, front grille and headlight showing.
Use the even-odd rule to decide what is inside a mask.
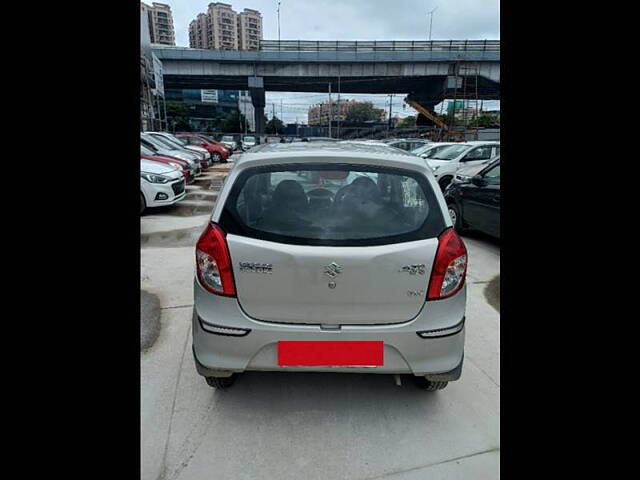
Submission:
[[[182,172],[166,163],[140,160],[140,214],[148,207],[173,205],[184,198]]]

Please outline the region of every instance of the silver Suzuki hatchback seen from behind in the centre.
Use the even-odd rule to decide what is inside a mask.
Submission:
[[[377,145],[243,154],[196,246],[193,354],[244,371],[460,378],[467,251],[421,158]]]

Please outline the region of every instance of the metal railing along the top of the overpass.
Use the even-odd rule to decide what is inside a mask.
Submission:
[[[263,52],[500,51],[500,40],[261,40]]]

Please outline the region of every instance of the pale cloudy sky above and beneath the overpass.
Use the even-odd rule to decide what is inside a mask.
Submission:
[[[189,22],[205,12],[208,1],[163,0],[171,5],[176,45],[189,46]],[[278,0],[227,0],[236,12],[252,8],[262,13],[264,39],[278,39]],[[282,40],[428,40],[433,11],[433,40],[500,39],[499,0],[280,0],[280,38]],[[336,98],[335,93],[332,98]],[[388,95],[342,95],[341,98],[372,101],[378,108],[389,108]],[[415,115],[394,95],[393,115]],[[328,94],[267,92],[266,113],[285,123],[306,122],[310,104],[328,100]],[[281,103],[282,102],[282,103]],[[281,104],[282,112],[281,116]],[[499,101],[485,101],[485,109],[497,109]],[[436,106],[439,111],[440,106]]]

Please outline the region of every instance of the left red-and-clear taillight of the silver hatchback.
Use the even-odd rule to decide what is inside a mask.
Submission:
[[[209,223],[196,244],[196,271],[200,284],[216,295],[236,296],[226,234]]]

